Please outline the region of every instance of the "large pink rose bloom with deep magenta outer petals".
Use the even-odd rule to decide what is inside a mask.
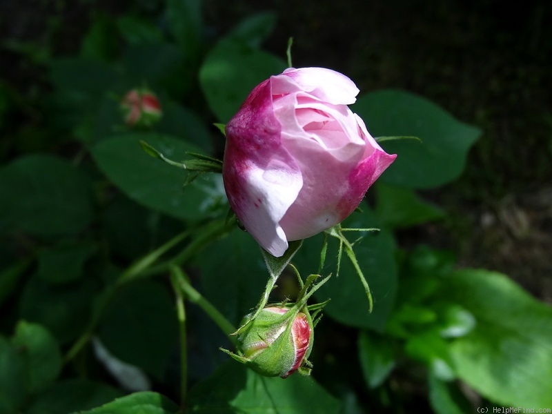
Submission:
[[[226,124],[228,201],[272,255],[343,221],[395,159],[348,108],[358,92],[339,72],[288,68]]]

